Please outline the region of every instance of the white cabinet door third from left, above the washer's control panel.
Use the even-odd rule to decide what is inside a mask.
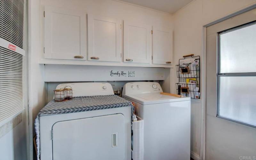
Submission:
[[[152,26],[124,21],[124,62],[150,63]]]

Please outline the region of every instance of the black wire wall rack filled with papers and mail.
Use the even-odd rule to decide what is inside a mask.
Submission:
[[[177,94],[194,99],[200,99],[200,56],[189,54],[183,56],[176,65]]]

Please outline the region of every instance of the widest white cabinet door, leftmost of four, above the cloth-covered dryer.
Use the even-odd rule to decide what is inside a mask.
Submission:
[[[45,7],[44,58],[86,60],[86,14]]]

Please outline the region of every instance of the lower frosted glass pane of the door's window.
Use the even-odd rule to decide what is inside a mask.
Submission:
[[[219,116],[256,126],[256,76],[220,76]]]

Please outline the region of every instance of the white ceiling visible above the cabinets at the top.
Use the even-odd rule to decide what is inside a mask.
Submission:
[[[173,14],[193,0],[121,0],[121,1]]]

